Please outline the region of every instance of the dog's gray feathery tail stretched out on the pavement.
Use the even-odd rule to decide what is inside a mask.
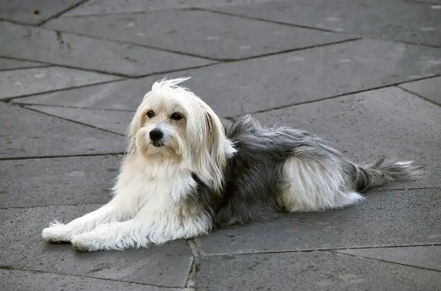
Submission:
[[[393,181],[415,180],[421,176],[421,167],[414,161],[399,162],[380,158],[370,165],[355,165],[352,172],[355,189],[363,192]]]

